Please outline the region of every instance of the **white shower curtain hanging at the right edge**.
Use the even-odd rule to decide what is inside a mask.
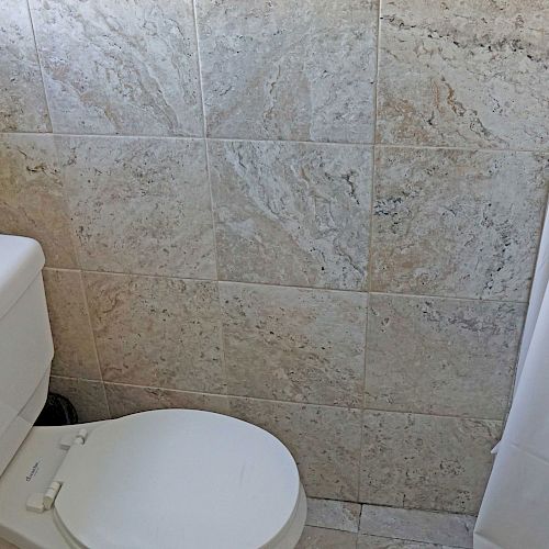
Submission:
[[[549,548],[549,211],[509,416],[474,529],[474,549]]]

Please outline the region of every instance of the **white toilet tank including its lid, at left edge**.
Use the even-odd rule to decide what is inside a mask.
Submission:
[[[0,235],[0,474],[46,402],[54,346],[43,267],[36,240]]]

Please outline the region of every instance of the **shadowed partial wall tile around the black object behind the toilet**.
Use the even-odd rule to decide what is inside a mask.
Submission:
[[[110,418],[103,383],[100,381],[52,376],[49,391],[67,397],[72,403],[79,423]]]

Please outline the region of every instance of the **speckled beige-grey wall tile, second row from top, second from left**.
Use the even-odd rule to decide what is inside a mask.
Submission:
[[[81,267],[215,278],[204,144],[56,137]]]

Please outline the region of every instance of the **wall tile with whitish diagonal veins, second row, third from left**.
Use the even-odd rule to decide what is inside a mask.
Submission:
[[[371,148],[209,147],[222,279],[366,289]]]

